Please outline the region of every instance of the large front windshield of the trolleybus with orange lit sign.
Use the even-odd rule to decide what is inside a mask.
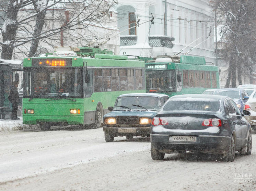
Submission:
[[[83,97],[82,68],[27,68],[25,98]]]

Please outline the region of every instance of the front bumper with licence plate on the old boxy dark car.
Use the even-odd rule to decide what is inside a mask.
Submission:
[[[106,127],[103,126],[103,131],[105,133],[109,133],[115,137],[118,136],[141,136],[141,137],[149,137],[150,136],[149,127]],[[133,132],[130,132],[133,131]]]

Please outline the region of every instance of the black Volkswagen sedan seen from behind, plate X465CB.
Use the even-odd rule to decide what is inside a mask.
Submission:
[[[250,155],[252,129],[232,99],[219,95],[171,97],[155,115],[151,127],[151,157],[165,153],[222,154],[233,161],[235,151]]]

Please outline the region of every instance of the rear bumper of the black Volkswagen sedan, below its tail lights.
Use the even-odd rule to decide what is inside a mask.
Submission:
[[[204,152],[222,153],[230,145],[231,137],[215,135],[198,135],[196,142],[170,141],[170,135],[150,135],[152,148],[163,153]]]

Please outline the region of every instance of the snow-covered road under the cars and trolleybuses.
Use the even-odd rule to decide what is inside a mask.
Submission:
[[[255,190],[251,156],[234,162],[191,153],[153,161],[150,138],[105,142],[102,128],[0,135],[0,190]]]

